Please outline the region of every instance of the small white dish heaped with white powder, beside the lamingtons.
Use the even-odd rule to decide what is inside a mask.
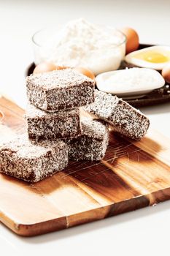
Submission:
[[[164,86],[165,80],[156,70],[134,67],[98,75],[96,83],[99,90],[116,94],[157,89]]]

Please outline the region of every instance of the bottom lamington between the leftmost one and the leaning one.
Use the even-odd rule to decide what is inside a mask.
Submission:
[[[109,143],[109,127],[104,121],[82,118],[82,135],[66,140],[69,159],[97,161],[104,157]]]

